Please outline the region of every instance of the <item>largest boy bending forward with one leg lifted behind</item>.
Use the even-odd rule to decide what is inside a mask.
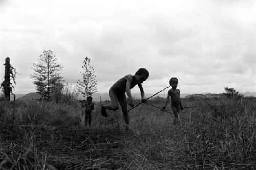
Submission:
[[[127,102],[125,92],[129,98],[128,104],[130,106],[134,106],[134,101],[131,94],[131,89],[134,88],[138,84],[141,94],[142,103],[145,103],[146,100],[144,99],[144,90],[142,87],[142,83],[148,78],[148,71],[145,68],[140,68],[135,75],[126,75],[123,78],[119,79],[109,91],[110,94],[110,104],[102,105],[101,106],[101,114],[104,117],[107,117],[106,109],[108,110],[118,110],[118,102],[121,106],[123,112],[123,118],[125,123],[129,125],[129,114],[127,112]]]

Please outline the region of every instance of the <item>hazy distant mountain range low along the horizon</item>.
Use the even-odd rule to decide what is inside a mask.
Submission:
[[[222,93],[220,94],[211,94],[211,93],[208,93],[208,92],[205,92],[205,93],[202,93],[206,96],[215,96],[215,95],[221,95]],[[249,91],[246,91],[246,92],[241,92],[241,94],[244,94],[244,96],[253,96],[253,97],[256,97],[256,92],[249,92]],[[37,94],[36,92],[31,92],[31,93],[28,93],[28,94],[15,94],[16,95],[16,99],[18,100],[36,100],[36,99],[39,99],[40,96],[39,94]],[[148,98],[150,96],[152,96],[153,94],[145,94],[145,98]],[[191,96],[191,95],[196,95],[196,94],[181,94],[181,98],[185,98],[186,96]],[[134,99],[140,99],[140,93],[132,93],[132,96]],[[157,94],[155,97],[160,97],[160,98],[166,98],[167,97],[167,94]],[[110,96],[109,96],[109,93],[95,93],[93,94],[93,101],[100,101],[100,98],[101,98],[101,101],[105,101],[105,100],[110,100]],[[79,94],[78,95],[78,99],[84,99],[82,94]],[[13,95],[11,95],[11,100],[13,100]]]

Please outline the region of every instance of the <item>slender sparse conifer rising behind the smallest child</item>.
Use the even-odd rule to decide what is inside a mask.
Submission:
[[[78,91],[81,92],[84,97],[88,97],[98,91],[97,81],[95,80],[96,76],[94,75],[95,71],[94,68],[90,66],[90,62],[90,58],[84,58],[82,62],[83,71],[81,71],[82,80],[78,80],[77,82]]]

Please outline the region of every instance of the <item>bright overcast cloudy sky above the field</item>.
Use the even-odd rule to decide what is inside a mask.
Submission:
[[[14,93],[35,91],[32,64],[52,50],[69,83],[91,58],[100,93],[144,67],[145,93],[179,79],[182,93],[256,91],[254,1],[0,0],[0,75],[8,56]],[[132,92],[138,92],[138,88]]]

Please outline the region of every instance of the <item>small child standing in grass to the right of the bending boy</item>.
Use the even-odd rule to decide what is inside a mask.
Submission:
[[[172,89],[168,90],[168,95],[167,95],[167,100],[165,102],[164,107],[162,108],[163,110],[165,110],[169,99],[171,99],[171,106],[172,106],[172,110],[174,112],[174,125],[177,124],[177,120],[179,120],[179,122],[181,122],[180,120],[180,109],[183,110],[183,107],[181,105],[181,100],[180,100],[180,90],[177,89],[177,85],[178,85],[178,79],[177,78],[171,78],[169,80],[169,84],[170,86],[172,86]]]

